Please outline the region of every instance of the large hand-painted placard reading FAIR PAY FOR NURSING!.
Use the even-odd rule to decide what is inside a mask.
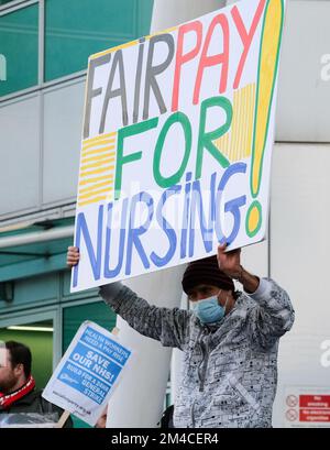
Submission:
[[[81,290],[265,237],[284,0],[242,0],[89,58]]]

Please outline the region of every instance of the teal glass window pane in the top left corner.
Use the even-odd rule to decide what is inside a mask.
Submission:
[[[0,17],[0,97],[37,84],[38,7]]]

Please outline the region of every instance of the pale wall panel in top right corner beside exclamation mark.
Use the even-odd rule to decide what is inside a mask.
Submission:
[[[287,2],[276,141],[330,142],[329,18],[329,1]]]

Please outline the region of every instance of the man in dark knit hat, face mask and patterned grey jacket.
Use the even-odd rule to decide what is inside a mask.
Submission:
[[[276,282],[241,265],[241,249],[226,246],[188,264],[182,283],[190,310],[151,306],[119,282],[100,288],[106,304],[138,332],[184,351],[176,428],[272,427],[278,340],[294,323],[294,308]],[[70,246],[68,265],[78,261],[78,249]]]

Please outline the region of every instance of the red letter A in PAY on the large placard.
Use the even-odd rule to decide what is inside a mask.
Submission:
[[[209,50],[210,41],[212,39],[213,31],[217,25],[220,25],[222,28],[223,52],[219,53],[218,55],[208,56],[207,53]],[[206,67],[216,66],[218,64],[222,64],[221,77],[220,77],[221,78],[220,88],[219,88],[219,92],[222,94],[224,92],[227,88],[228,64],[229,64],[229,26],[228,26],[227,17],[224,14],[216,15],[209,26],[208,34],[206,36],[206,41],[202,47],[199,66],[198,66],[198,73],[197,73],[195,90],[194,90],[194,105],[197,105],[199,102],[199,92],[200,92],[200,85],[201,85],[201,79],[204,75],[204,69]]]

